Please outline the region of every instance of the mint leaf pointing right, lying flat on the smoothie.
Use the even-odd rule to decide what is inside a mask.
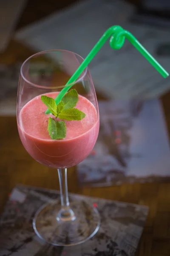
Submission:
[[[60,119],[65,120],[82,120],[85,117],[85,113],[80,111],[77,108],[68,108],[64,109],[61,113],[59,113],[58,117]]]

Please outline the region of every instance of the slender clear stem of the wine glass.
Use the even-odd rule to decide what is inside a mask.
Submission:
[[[58,213],[57,219],[60,221],[71,221],[75,219],[74,212],[70,208],[68,198],[68,185],[67,185],[67,169],[57,169],[59,175],[59,189],[61,210]]]

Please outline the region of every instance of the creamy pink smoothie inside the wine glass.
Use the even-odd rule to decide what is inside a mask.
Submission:
[[[58,93],[46,93],[56,98]],[[41,95],[29,101],[20,111],[18,131],[28,153],[38,162],[52,168],[68,168],[90,154],[99,133],[99,118],[94,105],[79,96],[76,108],[86,116],[81,121],[65,121],[67,132],[62,140],[52,140],[48,134],[47,107]]]

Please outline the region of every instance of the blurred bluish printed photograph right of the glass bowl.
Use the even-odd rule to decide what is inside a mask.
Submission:
[[[99,101],[99,137],[77,166],[85,186],[170,180],[170,147],[159,100]]]

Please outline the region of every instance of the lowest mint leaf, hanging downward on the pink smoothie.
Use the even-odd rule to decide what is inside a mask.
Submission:
[[[48,132],[53,140],[64,139],[66,136],[66,125],[64,121],[55,122],[53,118],[48,119]]]

